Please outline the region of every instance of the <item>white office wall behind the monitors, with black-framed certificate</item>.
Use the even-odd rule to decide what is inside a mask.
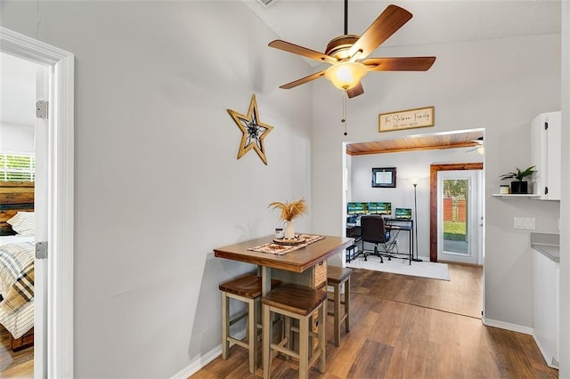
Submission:
[[[412,178],[419,179],[416,187],[418,216],[413,215],[418,234],[418,256],[429,259],[429,165],[448,163],[483,162],[483,156],[466,149],[419,150],[411,152],[371,154],[352,157],[351,189],[348,201],[390,201],[392,213],[395,208],[414,208]],[[373,188],[372,167],[396,167],[396,188]],[[413,211],[412,211],[413,212]],[[409,252],[407,234],[401,234],[398,245],[403,252]]]

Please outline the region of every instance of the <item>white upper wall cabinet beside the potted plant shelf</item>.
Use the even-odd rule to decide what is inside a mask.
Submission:
[[[541,113],[531,123],[531,161],[537,170],[533,193],[542,200],[560,199],[561,123],[559,111]]]

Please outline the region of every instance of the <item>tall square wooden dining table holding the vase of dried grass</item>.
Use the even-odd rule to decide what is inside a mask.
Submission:
[[[284,255],[258,253],[248,250],[250,247],[273,242],[273,235],[216,248],[214,249],[214,255],[219,258],[231,259],[232,261],[256,264],[261,270],[262,294],[267,294],[271,288],[272,278],[280,279],[283,283],[297,283],[304,286],[318,287],[326,283],[327,277],[325,272],[324,280],[316,282],[315,267],[354,243],[354,238],[324,237],[309,246]]]

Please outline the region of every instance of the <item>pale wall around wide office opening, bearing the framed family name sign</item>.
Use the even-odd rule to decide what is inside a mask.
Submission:
[[[437,60],[428,72],[364,77],[365,93],[348,101],[346,137],[339,121],[342,94],[327,81],[314,84],[313,229],[343,231],[343,142],[426,133],[378,133],[379,113],[433,105],[431,133],[484,127],[485,320],[532,328],[530,235],[513,229],[513,217],[536,217],[537,230],[556,232],[560,203],[510,201],[492,194],[499,189],[501,173],[530,165],[533,117],[560,109],[560,36],[380,48],[380,54],[435,55]]]

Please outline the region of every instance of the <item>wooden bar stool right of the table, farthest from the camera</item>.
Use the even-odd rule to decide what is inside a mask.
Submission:
[[[353,273],[352,269],[343,267],[329,266],[327,269],[327,285],[333,288],[333,298],[329,299],[334,303],[332,312],[328,312],[329,316],[334,318],[334,342],[338,346],[340,340],[340,324],[345,321],[346,332],[350,332],[350,275]],[[340,301],[340,286],[345,284],[345,298]],[[345,311],[340,317],[340,304],[345,306]]]

